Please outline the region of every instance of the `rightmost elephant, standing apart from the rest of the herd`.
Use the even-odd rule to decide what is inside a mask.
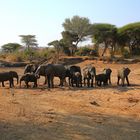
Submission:
[[[122,69],[118,70],[118,75],[117,75],[118,81],[117,81],[117,85],[119,85],[119,81],[121,79],[121,81],[122,81],[122,84],[121,85],[124,86],[124,82],[125,82],[125,79],[126,79],[127,86],[130,86],[129,80],[128,80],[128,75],[129,75],[130,72],[131,72],[131,70],[129,68],[127,68],[127,67],[123,67]]]

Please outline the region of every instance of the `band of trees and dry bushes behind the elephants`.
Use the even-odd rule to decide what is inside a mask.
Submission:
[[[65,19],[62,26],[64,27],[62,39],[48,43],[48,46],[52,47],[39,49],[35,35],[20,35],[22,45],[4,44],[1,46],[0,57],[23,61],[54,56],[59,59],[62,54],[104,56],[108,49],[111,57],[116,54],[125,58],[140,55],[140,22],[117,28],[107,23],[91,24],[88,18],[73,16]],[[94,45],[78,47],[79,42],[89,38]],[[102,48],[102,54],[99,54],[99,48]]]

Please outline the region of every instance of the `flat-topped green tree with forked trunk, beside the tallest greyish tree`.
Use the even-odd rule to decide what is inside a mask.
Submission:
[[[115,44],[117,42],[117,28],[115,25],[96,23],[92,25],[93,42],[96,44],[104,43],[105,48],[102,53],[104,56],[107,48],[111,46],[111,55],[114,55]]]

